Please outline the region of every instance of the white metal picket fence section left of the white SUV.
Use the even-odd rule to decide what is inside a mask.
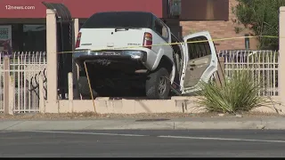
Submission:
[[[4,63],[9,63],[9,70],[4,70]],[[4,72],[9,72],[14,82],[14,112],[37,112],[38,78],[45,73],[45,52],[13,52],[9,60],[4,60],[4,53],[0,52],[0,68],[0,112],[4,111]]]

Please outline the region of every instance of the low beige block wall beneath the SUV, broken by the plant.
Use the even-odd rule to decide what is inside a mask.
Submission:
[[[199,107],[197,97],[172,97],[171,100],[111,100],[98,98],[95,101],[95,110],[98,114],[142,114],[142,113],[187,113],[197,114],[205,112],[204,107]],[[273,101],[281,101],[280,97],[273,97]],[[59,113],[84,113],[94,112],[92,100],[73,100],[72,108],[69,108],[69,100],[59,101]],[[285,109],[281,103],[273,103],[268,107],[255,108],[252,111],[276,113],[284,115]]]

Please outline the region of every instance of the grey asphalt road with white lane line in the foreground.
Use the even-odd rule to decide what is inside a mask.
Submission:
[[[7,157],[284,157],[285,131],[0,132]]]

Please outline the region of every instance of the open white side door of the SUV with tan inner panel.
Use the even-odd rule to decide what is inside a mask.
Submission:
[[[180,85],[182,94],[199,91],[199,82],[208,82],[217,70],[215,44],[208,31],[183,37],[185,63]],[[191,43],[203,41],[199,43]]]

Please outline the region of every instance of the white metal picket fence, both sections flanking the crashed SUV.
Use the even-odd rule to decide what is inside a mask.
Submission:
[[[218,55],[224,57],[225,78],[231,78],[234,71],[247,69],[253,73],[255,82],[264,88],[259,95],[278,95],[279,52],[221,51]],[[4,82],[5,72],[9,72],[14,80],[14,112],[38,112],[38,81],[40,74],[45,75],[45,52],[14,52],[8,61],[10,68],[4,70],[7,60],[4,60],[4,53],[0,52],[0,112],[4,111],[4,84],[7,84]]]

